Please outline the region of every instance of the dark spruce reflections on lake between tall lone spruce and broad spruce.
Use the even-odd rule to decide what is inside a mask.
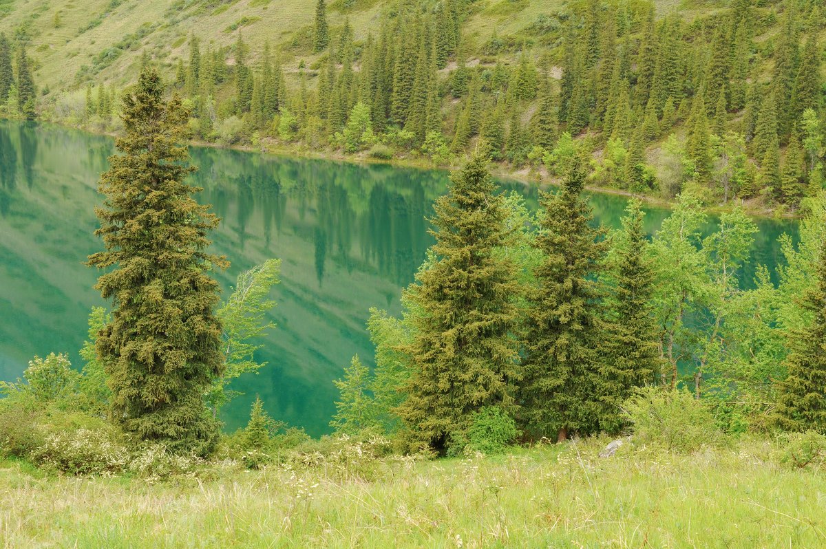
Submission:
[[[375,269],[399,286],[411,282],[432,242],[425,220],[432,197],[425,187],[434,196],[444,192],[444,173],[235,156],[193,149],[192,162],[201,167],[193,179],[241,248],[252,234],[269,248],[273,229],[287,230],[312,246],[319,285],[329,260],[348,272],[358,265]]]

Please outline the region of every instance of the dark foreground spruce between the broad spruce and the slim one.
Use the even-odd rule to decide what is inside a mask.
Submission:
[[[525,381],[522,396],[529,428],[536,434],[595,432],[605,412],[601,372],[604,341],[602,290],[594,277],[604,267],[606,230],[589,225],[582,198],[585,172],[578,156],[558,194],[543,192],[541,232],[526,314]]]

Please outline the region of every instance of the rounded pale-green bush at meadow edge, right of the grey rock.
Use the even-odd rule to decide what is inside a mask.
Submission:
[[[643,387],[625,401],[624,410],[638,444],[691,453],[723,437],[705,402],[685,390]]]

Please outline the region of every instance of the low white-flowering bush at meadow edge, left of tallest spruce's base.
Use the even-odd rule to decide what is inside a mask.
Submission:
[[[129,452],[112,429],[78,429],[52,433],[31,452],[38,466],[71,475],[111,476],[123,472]]]

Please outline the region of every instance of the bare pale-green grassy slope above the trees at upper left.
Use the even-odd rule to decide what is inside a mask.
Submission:
[[[349,19],[362,38],[381,7],[376,0],[333,2],[332,34]],[[90,79],[121,87],[134,81],[144,49],[170,68],[186,59],[190,33],[221,47],[233,44],[240,28],[250,50],[259,52],[268,40],[282,49],[285,69],[297,69],[299,55],[308,61],[314,56],[290,45],[294,36],[311,33],[314,8],[312,0],[6,0],[0,2],[0,28],[25,29],[41,88],[78,88]]]

